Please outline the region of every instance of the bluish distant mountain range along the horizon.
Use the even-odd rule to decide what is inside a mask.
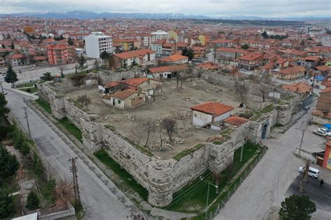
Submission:
[[[284,21],[307,21],[307,20],[330,20],[331,17],[256,17],[256,16],[229,16],[208,17],[205,15],[184,15],[181,13],[94,13],[87,10],[72,10],[66,13],[14,13],[0,14],[0,17],[12,15],[16,17],[42,17],[55,19],[97,19],[97,18],[135,18],[135,19],[233,19],[233,20],[284,20]]]

